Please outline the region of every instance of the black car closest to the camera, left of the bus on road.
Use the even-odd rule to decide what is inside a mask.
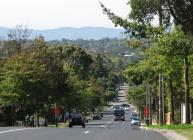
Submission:
[[[73,115],[69,122],[69,127],[72,128],[74,125],[81,125],[83,128],[85,128],[84,118],[81,115]]]

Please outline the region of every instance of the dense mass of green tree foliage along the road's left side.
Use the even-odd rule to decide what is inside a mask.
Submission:
[[[101,108],[115,97],[127,64],[118,57],[88,54],[76,45],[50,46],[42,36],[7,56],[0,60],[0,105],[6,108],[4,113],[12,109],[22,117],[35,112],[45,115],[55,103],[68,111]]]

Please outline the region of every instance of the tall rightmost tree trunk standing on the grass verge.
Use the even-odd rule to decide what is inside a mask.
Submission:
[[[186,107],[186,124],[190,124],[190,99],[189,99],[189,62],[188,56],[184,58],[184,92],[185,92],[185,107]]]

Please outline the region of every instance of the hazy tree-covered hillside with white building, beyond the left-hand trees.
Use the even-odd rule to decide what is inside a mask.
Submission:
[[[61,41],[53,40],[47,42],[50,46],[64,46],[66,44],[80,46],[85,49],[89,54],[105,54],[111,59],[119,58],[122,59],[122,62],[125,63],[125,66],[128,63],[133,63],[138,61],[139,55],[138,52],[129,47],[127,39],[118,39],[118,38],[103,38],[99,40],[69,40],[62,39]]]

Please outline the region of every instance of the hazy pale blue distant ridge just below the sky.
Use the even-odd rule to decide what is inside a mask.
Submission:
[[[0,27],[0,39],[7,37],[9,28]],[[42,35],[46,40],[61,40],[63,38],[76,40],[76,39],[102,39],[102,38],[120,38],[123,36],[124,30],[104,28],[104,27],[83,27],[83,28],[72,28],[64,27],[57,29],[46,29],[46,30],[33,30],[32,38],[38,35]]]

